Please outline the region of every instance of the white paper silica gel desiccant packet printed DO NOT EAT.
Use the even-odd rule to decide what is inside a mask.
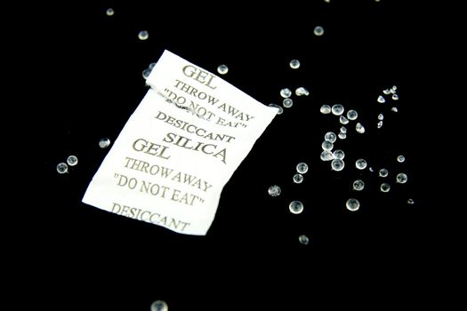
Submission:
[[[181,234],[205,235],[222,188],[277,108],[168,51],[147,84],[83,202]]]

